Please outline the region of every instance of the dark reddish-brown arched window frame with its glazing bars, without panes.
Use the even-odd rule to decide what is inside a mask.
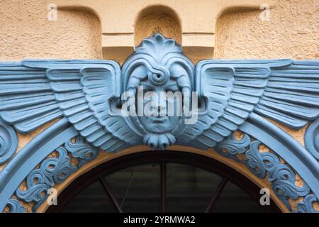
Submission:
[[[163,199],[162,199],[162,174],[163,174],[162,167],[163,165],[167,166],[168,164],[186,165],[186,166],[199,168],[201,170],[205,170],[208,172],[213,172],[215,175],[218,175],[221,178],[218,188],[222,184],[225,186],[227,182],[232,182],[233,184],[236,184],[237,187],[240,187],[240,189],[242,189],[243,192],[246,192],[248,195],[250,195],[252,199],[254,199],[254,201],[259,203],[259,199],[261,196],[259,187],[256,184],[254,184],[254,182],[251,182],[250,179],[241,175],[239,172],[237,172],[233,168],[228,167],[228,165],[225,165],[222,162],[218,162],[216,159],[207,157],[205,155],[198,155],[192,152],[173,151],[173,150],[151,152],[150,150],[147,150],[145,152],[130,153],[128,155],[122,155],[121,157],[113,158],[109,160],[108,162],[101,163],[101,165],[94,167],[92,170],[89,170],[83,175],[78,176],[65,189],[62,190],[62,192],[59,195],[59,201],[57,202],[57,206],[49,206],[45,210],[45,212],[55,213],[55,212],[62,211],[62,209],[64,209],[64,207],[69,203],[69,201],[72,201],[72,199],[74,199],[74,197],[77,196],[77,194],[81,193],[83,190],[89,187],[89,185],[91,185],[93,182],[100,181],[102,176],[107,176],[109,174],[124,170],[129,167],[134,168],[139,165],[147,165],[147,164],[160,165],[161,210],[165,209],[163,208]],[[166,174],[167,170],[164,170],[164,172]],[[167,181],[166,177],[164,181],[165,182]],[[223,182],[225,182],[225,184]],[[107,187],[111,186],[104,181],[103,185],[105,184],[107,185]],[[164,184],[167,184],[167,183],[164,183]],[[216,191],[217,190],[219,189],[216,189]],[[223,193],[223,187],[220,187],[219,192]],[[114,192],[108,191],[108,193],[113,194]],[[164,194],[167,194],[167,192],[164,192]],[[215,194],[213,194],[213,196],[215,196]],[[114,194],[111,197],[112,197],[112,200],[115,199]],[[214,199],[218,199],[218,196],[216,196],[216,198]],[[118,210],[119,212],[125,212],[125,210],[123,210],[121,207],[118,206],[119,204],[114,204],[114,203],[116,202],[115,201],[112,202],[116,210]],[[165,201],[164,201],[164,204],[166,204]],[[209,204],[209,206],[211,206],[211,204]],[[213,207],[211,206],[210,209],[212,208]],[[264,206],[264,210],[267,212],[276,212],[276,213],[281,211],[278,208],[278,206],[276,206],[276,203],[274,203],[274,201],[272,200],[270,200],[269,206]],[[208,207],[206,208],[206,212],[208,213],[210,212],[208,211]]]

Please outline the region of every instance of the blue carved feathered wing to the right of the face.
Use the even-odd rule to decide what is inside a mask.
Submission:
[[[205,60],[196,66],[196,91],[206,109],[180,143],[213,147],[252,112],[298,129],[319,115],[319,61]]]

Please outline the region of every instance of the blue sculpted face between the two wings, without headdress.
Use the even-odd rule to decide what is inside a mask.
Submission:
[[[143,88],[144,94],[144,99],[141,101],[143,110],[149,111],[148,114],[146,114],[147,116],[145,116],[144,113],[143,116],[139,117],[142,126],[150,133],[172,131],[179,124],[181,118],[181,116],[178,116],[177,111],[179,104],[181,104],[179,103],[181,96],[173,97],[173,99],[160,99],[160,97],[161,94],[163,95],[162,92],[165,92],[164,94],[167,94],[166,92],[172,92],[168,94],[181,92],[176,80],[167,79],[167,82],[164,84],[155,85],[150,80],[145,79],[140,81],[140,86]],[[157,101],[153,99],[154,95],[158,98]],[[169,114],[169,108],[172,108],[173,111],[170,112],[172,114]],[[160,114],[161,112],[164,114]]]

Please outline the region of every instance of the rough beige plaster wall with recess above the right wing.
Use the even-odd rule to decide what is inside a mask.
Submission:
[[[278,0],[261,11],[229,11],[216,25],[216,58],[319,58],[319,1]]]

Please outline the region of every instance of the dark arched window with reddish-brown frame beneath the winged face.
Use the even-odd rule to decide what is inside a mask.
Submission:
[[[78,177],[47,212],[280,212],[227,165],[178,151],[142,152]]]

